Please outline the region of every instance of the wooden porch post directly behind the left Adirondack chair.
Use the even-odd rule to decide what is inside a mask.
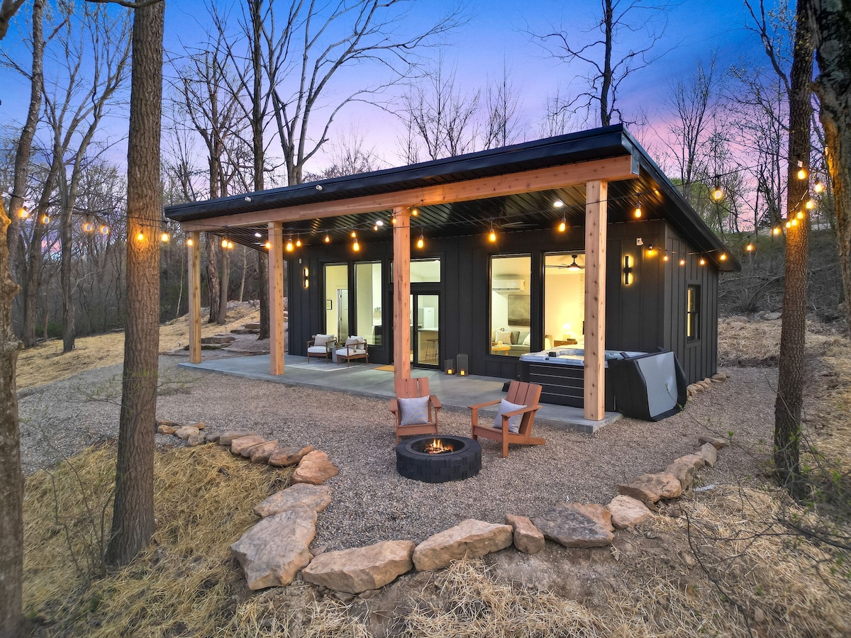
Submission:
[[[411,212],[393,208],[393,377],[411,376]]]

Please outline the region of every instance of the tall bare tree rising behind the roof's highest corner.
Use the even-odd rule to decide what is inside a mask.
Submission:
[[[620,85],[656,59],[650,51],[665,35],[666,9],[666,5],[650,5],[644,0],[601,0],[601,16],[586,31],[592,34],[588,42],[577,43],[575,31],[563,26],[535,35],[557,60],[580,62],[588,69],[587,88],[557,104],[558,110],[585,111],[588,117],[597,111],[597,121],[602,126],[608,126],[613,119],[625,122],[618,106]],[[626,45],[624,53],[617,53],[618,45],[631,36],[634,42]]]

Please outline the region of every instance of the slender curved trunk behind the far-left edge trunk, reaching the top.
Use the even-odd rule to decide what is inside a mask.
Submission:
[[[19,240],[20,211],[24,208],[26,198],[26,178],[29,175],[32,139],[36,135],[38,113],[42,105],[43,84],[43,37],[44,0],[34,0],[32,3],[32,73],[30,81],[30,105],[26,111],[26,122],[20,132],[18,148],[14,153],[14,185],[12,197],[9,197],[9,270],[15,282],[23,279],[22,251]]]

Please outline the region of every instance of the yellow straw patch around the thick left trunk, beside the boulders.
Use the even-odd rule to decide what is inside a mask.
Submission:
[[[229,546],[256,521],[254,504],[285,487],[289,472],[219,446],[157,454],[151,546],[129,567],[89,582],[72,559],[83,544],[68,551],[55,504],[70,520],[107,505],[108,530],[108,494],[81,498],[81,485],[103,485],[114,473],[114,450],[103,447],[69,459],[52,476],[40,471],[26,479],[24,595],[38,635],[214,635],[230,623],[234,596],[245,593]]]

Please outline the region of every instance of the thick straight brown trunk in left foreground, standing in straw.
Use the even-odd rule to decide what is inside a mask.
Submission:
[[[108,565],[131,561],[154,531],[159,349],[159,166],[165,3],[134,9],[127,154],[127,326]],[[139,240],[137,235],[143,233]]]

